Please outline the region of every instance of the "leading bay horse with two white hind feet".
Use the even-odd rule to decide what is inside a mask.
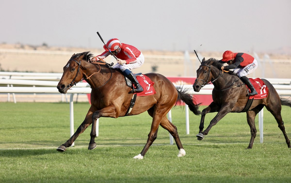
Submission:
[[[120,70],[112,69],[109,64],[97,62],[93,64],[88,60],[93,56],[91,52],[82,52],[72,55],[68,63],[64,66],[63,76],[58,83],[58,91],[66,93],[67,90],[77,82],[86,80],[90,84],[91,91],[91,107],[88,113],[78,127],[77,131],[67,142],[57,148],[57,151],[66,151],[76,138],[84,132],[84,130],[92,124],[91,139],[88,150],[96,147],[96,121],[100,117],[123,117],[127,113],[133,94],[130,93],[132,88],[125,84],[125,78]],[[105,65],[101,65],[105,64]],[[168,119],[166,114],[177,102],[185,102],[189,109],[199,115],[198,110],[200,104],[196,104],[192,96],[187,91],[176,89],[170,80],[160,74],[148,73],[148,76],[154,84],[156,94],[150,96],[137,96],[135,105],[129,115],[137,115],[148,111],[152,117],[152,125],[148,140],[139,155],[135,159],[143,159],[145,153],[157,138],[159,125],[166,129],[175,139],[178,146],[178,157],[186,154],[180,141],[177,128]]]

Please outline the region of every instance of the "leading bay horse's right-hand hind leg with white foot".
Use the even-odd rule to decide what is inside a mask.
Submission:
[[[162,119],[160,125],[166,129],[172,136],[173,138],[175,139],[175,142],[177,144],[177,147],[179,149],[179,154],[178,154],[178,157],[182,157],[184,155],[186,155],[186,152],[182,146],[182,143],[181,143],[181,140],[180,140],[180,137],[178,135],[178,130],[177,130],[177,127],[175,125],[173,125],[168,119],[166,116],[164,116],[164,118]]]

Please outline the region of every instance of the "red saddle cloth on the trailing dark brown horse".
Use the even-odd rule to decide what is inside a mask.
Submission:
[[[249,99],[263,99],[266,98],[269,94],[269,89],[265,85],[264,81],[262,81],[260,78],[252,79],[249,78],[251,83],[253,84],[255,90],[258,92],[258,95],[249,96]],[[248,88],[248,86],[246,86]],[[249,89],[249,92],[251,90]]]

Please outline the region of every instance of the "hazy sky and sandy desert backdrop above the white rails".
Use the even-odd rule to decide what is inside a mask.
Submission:
[[[11,0],[1,7],[1,71],[62,73],[72,54],[104,51],[98,31],[105,42],[118,38],[143,52],[134,73],[195,78],[194,50],[200,60],[231,50],[258,60],[249,77],[291,78],[290,0]]]

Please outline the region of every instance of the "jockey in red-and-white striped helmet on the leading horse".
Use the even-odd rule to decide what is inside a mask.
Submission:
[[[106,48],[109,48],[109,50]],[[134,84],[136,92],[142,92],[143,87],[139,84],[136,77],[133,75],[132,69],[139,68],[143,65],[144,57],[143,54],[134,46],[121,43],[116,38],[111,38],[107,41],[106,46],[103,48],[105,51],[96,57],[93,57],[91,61],[97,61],[98,59],[104,59],[108,55],[115,55],[117,59],[117,64],[113,66],[113,69],[119,68],[123,75],[128,77],[128,79]]]

